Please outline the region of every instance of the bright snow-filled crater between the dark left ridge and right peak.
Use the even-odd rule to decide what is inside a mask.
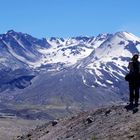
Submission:
[[[97,39],[94,37],[82,36],[68,39],[47,39],[47,42],[52,47],[49,49],[45,48],[39,50],[39,52],[44,55],[42,65],[62,63],[66,66],[71,66],[76,64],[77,61],[87,57],[95,49],[95,47],[98,47],[108,37],[109,36],[106,35],[106,37],[100,41],[97,41]]]

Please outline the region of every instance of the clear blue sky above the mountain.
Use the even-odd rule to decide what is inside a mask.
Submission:
[[[96,36],[128,31],[140,37],[140,0],[0,0],[0,34]]]

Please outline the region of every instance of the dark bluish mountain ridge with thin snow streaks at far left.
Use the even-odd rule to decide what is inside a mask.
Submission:
[[[1,65],[13,70],[37,65],[42,59],[42,54],[37,50],[41,47],[49,47],[46,40],[10,30],[0,35]]]

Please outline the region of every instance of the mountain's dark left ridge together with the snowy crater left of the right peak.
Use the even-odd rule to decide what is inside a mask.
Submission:
[[[13,69],[25,66],[36,68],[50,63],[72,65],[88,56],[94,47],[98,47],[108,37],[109,35],[97,38],[37,39],[10,30],[0,35],[0,62],[1,65]]]

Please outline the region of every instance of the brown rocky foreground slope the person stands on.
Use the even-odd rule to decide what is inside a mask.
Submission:
[[[140,112],[125,105],[103,107],[44,124],[18,140],[139,140]]]

